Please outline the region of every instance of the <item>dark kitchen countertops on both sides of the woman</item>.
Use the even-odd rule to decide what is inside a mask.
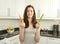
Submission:
[[[2,31],[3,33],[3,31]],[[15,28],[15,31],[12,33],[12,34],[9,34],[8,32],[4,32],[4,34],[2,34],[0,32],[0,40],[4,39],[4,38],[10,38],[10,37],[13,37],[15,35],[18,35],[19,34],[19,28]],[[45,36],[45,37],[53,37],[53,38],[60,38],[60,35],[59,36],[53,36],[53,31],[51,30],[40,30],[40,36]]]

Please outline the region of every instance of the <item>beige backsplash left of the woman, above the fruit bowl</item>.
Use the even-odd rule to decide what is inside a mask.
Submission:
[[[5,19],[5,20],[0,20],[0,30],[1,29],[6,29],[8,26],[12,27],[19,27],[19,20],[10,20],[10,19]]]

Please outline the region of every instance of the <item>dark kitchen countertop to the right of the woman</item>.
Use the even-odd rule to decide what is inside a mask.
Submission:
[[[40,30],[40,36],[45,36],[45,37],[52,37],[52,38],[60,38],[60,32],[59,35],[53,35],[53,31],[52,30]]]

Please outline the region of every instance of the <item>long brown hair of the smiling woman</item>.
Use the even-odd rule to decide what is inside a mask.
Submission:
[[[27,16],[27,9],[31,7],[33,8],[33,11],[34,11],[34,15],[32,17],[32,24],[33,24],[33,27],[35,27],[35,24],[37,23],[36,21],[36,13],[35,13],[35,9],[32,5],[28,5],[26,8],[25,8],[25,11],[24,11],[24,22],[25,22],[25,28],[29,27],[29,21],[28,21],[28,16]]]

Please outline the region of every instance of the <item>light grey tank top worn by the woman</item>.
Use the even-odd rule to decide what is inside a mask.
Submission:
[[[20,44],[37,44],[34,40],[36,29],[35,28],[25,28],[25,39],[24,42]]]

